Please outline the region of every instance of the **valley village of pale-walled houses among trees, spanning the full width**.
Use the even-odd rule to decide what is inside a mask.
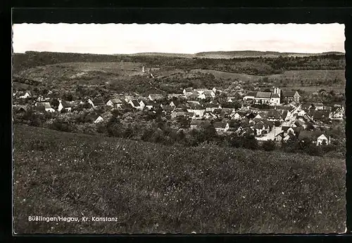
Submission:
[[[25,113],[33,108],[39,113],[65,113],[67,117],[70,113],[73,116],[82,110],[99,109],[91,118],[94,124],[104,123],[116,110],[161,111],[168,120],[186,120],[182,130],[213,125],[218,135],[253,136],[258,143],[310,139],[316,145],[330,144],[333,138],[329,130],[345,117],[343,105],[302,103],[297,91],[283,92],[272,87],[271,92],[265,89],[265,92],[243,94],[241,85],[237,89],[237,93],[227,94],[215,87],[184,88],[180,94],[113,94],[108,100],[85,97],[77,101],[53,97],[50,91],[47,96],[23,91],[13,93],[13,111]]]

